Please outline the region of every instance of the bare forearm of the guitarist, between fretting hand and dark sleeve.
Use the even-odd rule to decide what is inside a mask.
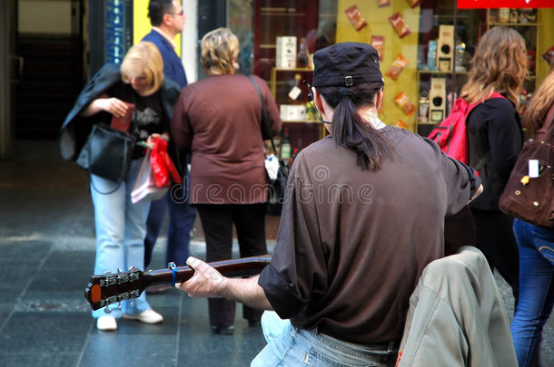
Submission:
[[[263,288],[258,285],[258,275],[249,278],[225,278],[221,296],[258,310],[272,310]]]

